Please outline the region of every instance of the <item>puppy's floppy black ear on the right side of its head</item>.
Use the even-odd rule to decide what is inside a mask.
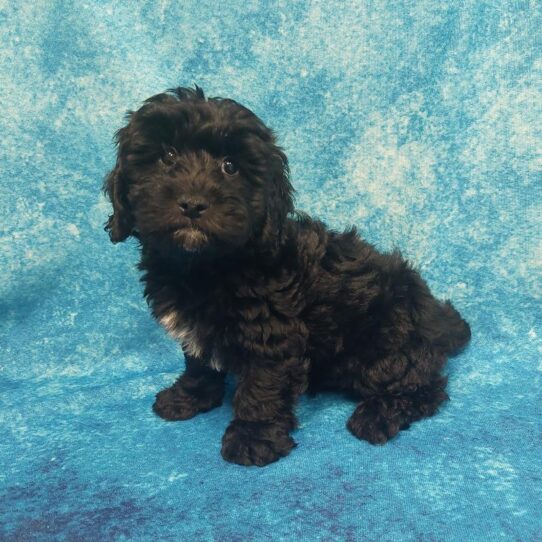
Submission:
[[[284,151],[272,144],[270,154],[270,182],[267,183],[266,219],[262,230],[262,240],[272,245],[280,243],[282,229],[288,213],[294,210],[294,189],[290,183],[288,158]]]

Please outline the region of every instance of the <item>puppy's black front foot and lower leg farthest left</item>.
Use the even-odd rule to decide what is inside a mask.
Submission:
[[[154,412],[168,421],[188,420],[222,404],[226,373],[215,371],[191,356],[173,386],[156,395]]]

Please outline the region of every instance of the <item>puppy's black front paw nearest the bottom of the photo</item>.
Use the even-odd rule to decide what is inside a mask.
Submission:
[[[285,424],[233,420],[222,437],[222,457],[238,465],[263,467],[290,453],[296,443]]]

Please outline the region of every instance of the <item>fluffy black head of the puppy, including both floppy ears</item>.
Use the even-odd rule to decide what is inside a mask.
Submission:
[[[273,246],[293,210],[285,154],[256,115],[233,100],[177,88],[127,114],[106,178],[113,242],[190,252]]]

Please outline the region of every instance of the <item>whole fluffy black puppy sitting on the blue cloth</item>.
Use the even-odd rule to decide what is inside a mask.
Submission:
[[[399,253],[354,228],[296,213],[273,132],[200,88],[149,98],[117,133],[105,182],[113,242],[141,245],[153,315],[181,342],[186,370],[154,411],[186,420],[222,403],[237,375],[224,459],[266,465],[295,446],[297,397],[354,394],[358,438],[382,444],[447,399],[446,358],[470,338]]]

